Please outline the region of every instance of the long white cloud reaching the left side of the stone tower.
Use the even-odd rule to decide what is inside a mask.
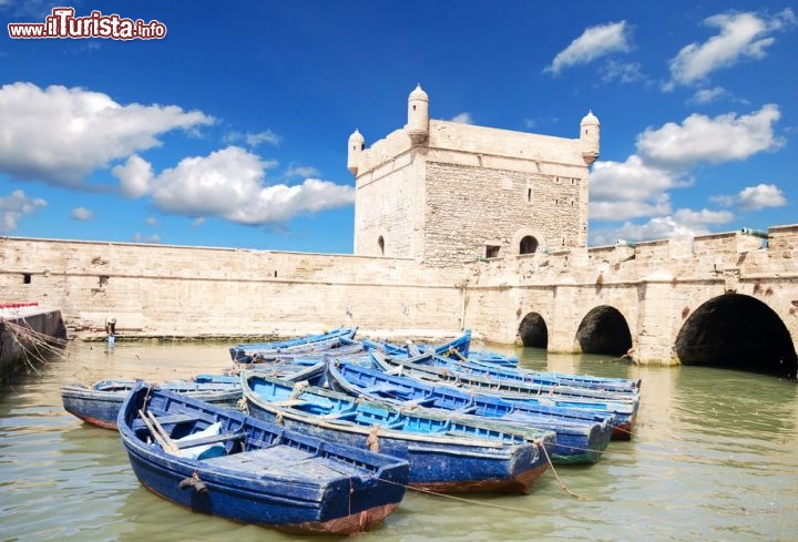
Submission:
[[[120,166],[114,174],[129,185],[146,186],[161,211],[192,217],[219,216],[241,224],[287,221],[355,201],[351,186],[317,178],[300,185],[267,185],[269,166],[244,149],[228,146],[207,156],[184,158],[156,176],[144,173],[146,178],[135,177],[133,170],[147,171],[139,165]]]

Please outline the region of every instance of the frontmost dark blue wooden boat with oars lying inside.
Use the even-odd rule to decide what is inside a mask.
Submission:
[[[287,532],[355,534],[405,497],[409,464],[139,381],[117,426],[139,481],[194,512]]]

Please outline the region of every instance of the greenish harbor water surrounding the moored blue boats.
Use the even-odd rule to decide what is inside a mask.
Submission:
[[[288,541],[173,505],[142,488],[114,431],[66,413],[62,384],[154,381],[231,368],[221,344],[71,344],[0,390],[0,540]],[[642,378],[634,437],[593,466],[549,470],[528,495],[408,491],[362,542],[798,540],[798,386],[732,370],[638,367],[603,356],[521,356],[524,367]],[[567,491],[566,491],[567,490]],[[307,540],[340,540],[307,536]]]

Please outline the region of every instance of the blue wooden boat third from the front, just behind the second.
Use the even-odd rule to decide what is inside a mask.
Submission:
[[[509,401],[497,396],[470,393],[452,386],[431,385],[388,375],[344,360],[327,366],[330,386],[355,397],[367,397],[402,407],[454,411],[469,419],[490,418],[502,423],[555,433],[551,459],[557,463],[595,463],[610,444],[615,417],[556,406]]]

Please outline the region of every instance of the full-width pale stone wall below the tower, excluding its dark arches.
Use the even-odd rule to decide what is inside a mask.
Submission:
[[[0,238],[4,303],[60,309],[73,331],[115,316],[122,335],[293,336],[358,325],[382,337],[451,337],[463,327],[518,339],[538,313],[549,349],[579,351],[597,307],[623,316],[642,362],[675,362],[688,316],[735,293],[769,307],[798,347],[798,227],[635,247],[507,255],[439,268],[411,259]]]

